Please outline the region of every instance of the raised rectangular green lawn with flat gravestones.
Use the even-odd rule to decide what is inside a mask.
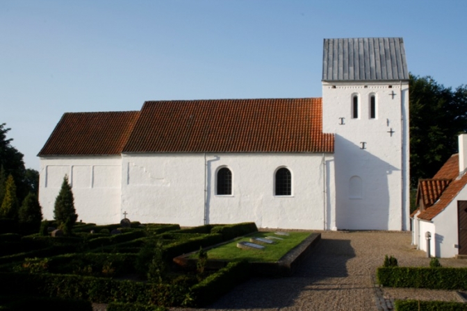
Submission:
[[[295,246],[303,242],[311,233],[308,232],[291,232],[289,235],[275,235],[274,232],[258,232],[248,237],[241,237],[228,244],[208,250],[208,259],[210,260],[227,260],[239,261],[248,260],[249,262],[277,262],[286,253]],[[265,245],[265,249],[238,249],[238,242],[249,242],[251,237],[279,237],[275,239],[275,244]],[[196,258],[197,254],[190,256]]]

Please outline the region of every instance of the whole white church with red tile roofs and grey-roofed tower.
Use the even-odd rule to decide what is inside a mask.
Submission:
[[[44,219],[67,175],[97,224],[408,230],[404,42],[325,39],[322,98],[65,113],[38,156]]]

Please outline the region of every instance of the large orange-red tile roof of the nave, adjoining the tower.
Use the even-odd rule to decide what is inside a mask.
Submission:
[[[334,152],[322,99],[147,101],[124,153]]]

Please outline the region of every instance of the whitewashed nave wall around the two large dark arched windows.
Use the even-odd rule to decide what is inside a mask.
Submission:
[[[332,229],[333,155],[324,160],[322,154],[124,154],[122,211],[131,220],[181,226],[255,221],[262,228]],[[231,196],[215,194],[219,167],[232,172]],[[274,195],[279,167],[292,174],[292,196]]]

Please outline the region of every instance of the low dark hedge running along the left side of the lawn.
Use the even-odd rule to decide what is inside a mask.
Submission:
[[[167,261],[172,261],[173,258],[190,253],[192,251],[199,250],[200,247],[205,248],[207,246],[219,244],[222,242],[222,235],[211,234],[205,235],[204,237],[195,237],[188,241],[181,240],[172,244],[163,246],[163,258]]]

